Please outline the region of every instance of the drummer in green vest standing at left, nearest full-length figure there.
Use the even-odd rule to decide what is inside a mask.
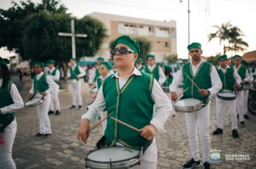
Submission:
[[[50,120],[48,117],[48,111],[50,107],[50,91],[55,87],[56,83],[43,72],[44,64],[42,62],[35,62],[34,69],[36,76],[32,81],[32,87],[29,90],[29,98],[35,95],[43,95],[44,101],[42,104],[37,105],[37,114],[39,118],[39,132],[35,137],[50,137],[52,130],[50,127]]]

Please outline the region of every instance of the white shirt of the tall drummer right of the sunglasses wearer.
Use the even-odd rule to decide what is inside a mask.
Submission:
[[[198,68],[203,62],[204,61],[201,60],[201,62],[199,62],[197,65],[193,65],[192,62],[190,62],[193,76],[196,74],[196,72],[198,71]],[[211,67],[210,77],[211,77],[211,87],[209,89],[204,89],[204,90],[209,90],[211,95],[215,95],[217,92],[219,92],[219,90],[221,90],[222,83],[221,83],[221,79],[219,78],[219,74],[214,66]],[[177,91],[179,84],[183,84],[183,69],[180,69],[177,72],[175,79],[173,79],[172,84],[170,84],[170,92]]]

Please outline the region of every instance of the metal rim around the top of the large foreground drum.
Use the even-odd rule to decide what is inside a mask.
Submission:
[[[116,146],[116,147],[109,147],[109,148],[127,148],[127,147],[121,147],[121,146],[118,147],[118,146]],[[101,148],[101,149],[92,150],[92,151],[90,151],[90,152],[88,153],[88,155],[90,155],[91,153],[93,153],[93,152],[95,152],[95,151],[97,151],[97,150],[104,150],[104,149],[109,149],[109,148]],[[129,149],[132,149],[132,148],[129,148]],[[135,150],[135,149],[132,149],[132,150]],[[135,155],[133,158],[127,158],[127,159],[125,159],[125,160],[111,161],[111,163],[122,163],[122,162],[125,162],[125,161],[127,161],[127,160],[136,160],[136,159],[140,159],[140,151],[139,151],[139,150],[137,150],[137,151],[138,151],[138,154]],[[103,162],[103,161],[91,160],[91,159],[88,158],[88,155],[86,155],[86,158],[85,158],[86,164],[87,164],[87,161],[90,161],[90,162],[93,162],[93,163],[99,163],[99,164],[109,164],[109,161]],[[139,161],[140,161],[140,160],[139,160]]]

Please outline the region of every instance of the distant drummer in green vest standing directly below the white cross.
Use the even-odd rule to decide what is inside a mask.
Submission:
[[[71,93],[72,93],[72,106],[70,109],[76,108],[78,105],[78,109],[82,109],[82,95],[81,95],[81,78],[86,75],[86,72],[76,65],[76,59],[70,59],[70,67],[68,68],[67,77],[72,80],[71,83]]]

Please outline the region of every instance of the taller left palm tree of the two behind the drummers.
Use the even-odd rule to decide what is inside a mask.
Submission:
[[[219,39],[219,44],[223,44],[223,53],[226,54],[227,47],[225,43],[229,42],[229,29],[232,28],[232,24],[230,24],[230,21],[227,22],[226,24],[221,24],[221,26],[214,25],[217,30],[213,34],[209,34],[209,42],[212,39],[218,38]]]

